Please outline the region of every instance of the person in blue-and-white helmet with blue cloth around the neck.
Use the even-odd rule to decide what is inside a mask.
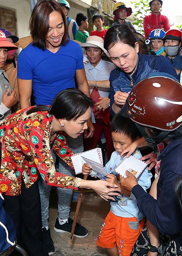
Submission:
[[[164,30],[159,28],[154,29],[150,32],[149,39],[152,41],[152,52],[155,52],[156,55],[166,55],[166,53],[164,52],[164,36]]]

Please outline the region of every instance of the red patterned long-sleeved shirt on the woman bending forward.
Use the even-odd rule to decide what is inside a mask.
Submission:
[[[33,108],[33,107],[30,107]],[[81,179],[56,172],[51,147],[71,168],[73,152],[66,146],[66,133],[55,133],[50,142],[53,116],[47,111],[27,115],[30,108],[18,110],[0,124],[2,160],[0,192],[15,196],[21,193],[21,180],[29,188],[39,176],[47,185],[78,189]]]

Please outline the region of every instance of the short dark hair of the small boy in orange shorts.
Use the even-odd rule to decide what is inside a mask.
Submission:
[[[135,123],[130,118],[124,117],[120,113],[116,114],[112,119],[111,132],[123,133],[132,141],[136,140],[137,137],[142,137]]]

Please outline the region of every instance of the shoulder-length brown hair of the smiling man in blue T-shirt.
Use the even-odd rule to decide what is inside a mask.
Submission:
[[[49,15],[51,12],[59,12],[64,23],[64,35],[62,37],[62,45],[68,42],[68,24],[62,7],[55,0],[40,0],[33,8],[30,17],[30,33],[33,37],[33,45],[42,50],[46,49],[46,35],[49,30]]]

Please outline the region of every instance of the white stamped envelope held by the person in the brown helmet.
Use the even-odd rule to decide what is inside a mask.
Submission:
[[[135,156],[124,157],[123,160],[118,164],[114,171],[120,174],[123,178],[126,178],[126,170],[133,174],[137,179],[140,174],[145,170],[147,164]]]

